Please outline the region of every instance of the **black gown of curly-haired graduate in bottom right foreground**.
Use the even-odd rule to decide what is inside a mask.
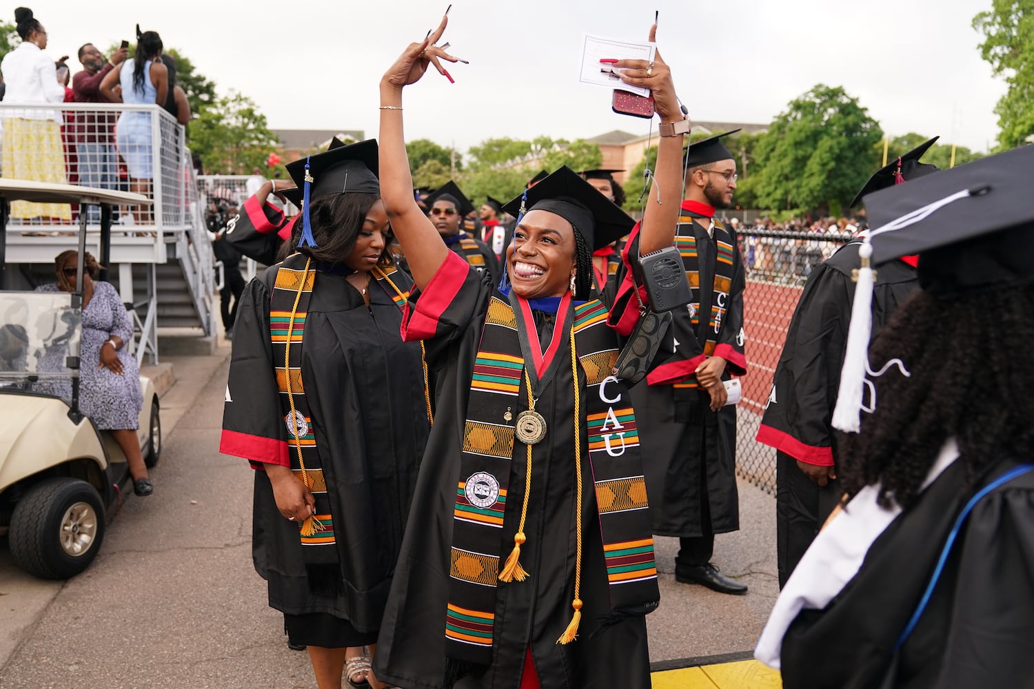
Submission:
[[[1015,466],[1003,459],[967,489],[956,461],[891,522],[844,590],[791,624],[780,658],[785,689],[1034,687],[1034,472],[976,504],[881,684],[963,505]]]

